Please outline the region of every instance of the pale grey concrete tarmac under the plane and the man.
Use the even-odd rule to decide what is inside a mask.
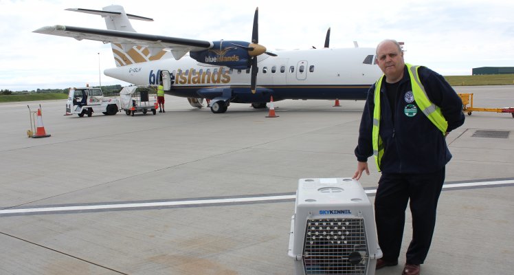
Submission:
[[[514,86],[456,91],[475,107],[514,106]],[[293,274],[298,179],[357,166],[364,102],[340,103],[275,102],[278,118],[172,96],[166,113],[133,117],[65,116],[65,100],[0,104],[0,274]],[[27,137],[27,104],[41,104],[51,137]],[[423,275],[513,274],[513,131],[510,113],[473,112],[447,137],[454,157]],[[366,190],[379,179],[370,167]],[[407,214],[400,264],[376,274],[401,274],[410,236]]]

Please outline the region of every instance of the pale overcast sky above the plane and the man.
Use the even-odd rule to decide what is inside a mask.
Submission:
[[[102,10],[111,4],[153,22],[132,21],[138,32],[207,41],[250,41],[259,8],[259,43],[269,50],[373,47],[405,42],[405,61],[443,75],[473,67],[514,67],[514,1],[14,1],[0,0],[0,89],[114,85],[111,47],[96,41],[33,33],[47,25],[105,29],[102,17],[66,8]],[[337,3],[337,5],[336,5]],[[100,68],[100,69],[99,69]],[[99,71],[102,72],[101,77]]]

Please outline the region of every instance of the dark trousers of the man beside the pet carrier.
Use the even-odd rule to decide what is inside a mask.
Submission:
[[[400,255],[409,199],[412,241],[407,249],[407,263],[420,265],[425,261],[432,243],[437,201],[444,181],[444,167],[428,174],[382,174],[375,197],[375,221],[385,261],[397,261]]]

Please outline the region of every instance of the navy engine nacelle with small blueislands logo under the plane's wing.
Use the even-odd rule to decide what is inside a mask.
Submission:
[[[249,45],[248,42],[214,41],[213,44],[214,47],[209,50],[190,52],[189,55],[199,63],[226,66],[232,69],[248,69],[250,67],[248,51],[236,46],[247,47]]]

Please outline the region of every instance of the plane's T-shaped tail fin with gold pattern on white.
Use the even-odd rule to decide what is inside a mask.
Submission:
[[[153,21],[148,17],[140,17],[134,14],[125,12],[121,5],[109,5],[102,10],[88,10],[83,8],[69,8],[66,9],[71,12],[83,12],[89,14],[97,14],[104,18],[107,30],[120,30],[124,32],[136,32],[132,27],[129,19]],[[168,52],[162,49],[153,49],[142,47],[135,44],[114,44],[111,43],[113,49],[114,61],[116,67],[131,65],[135,63],[142,63],[146,61],[159,60]]]

